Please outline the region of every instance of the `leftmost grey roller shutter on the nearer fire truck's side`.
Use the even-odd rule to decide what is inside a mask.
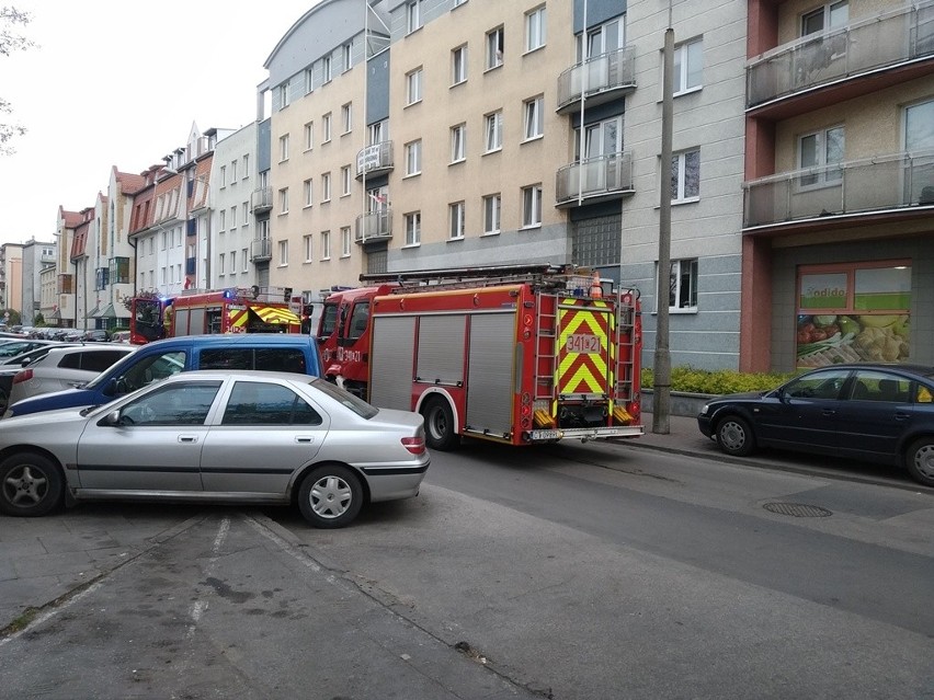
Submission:
[[[410,315],[373,317],[372,321],[368,401],[383,409],[411,411],[415,319]]]

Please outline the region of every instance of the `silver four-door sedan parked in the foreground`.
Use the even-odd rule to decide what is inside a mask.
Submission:
[[[297,501],[314,526],[343,527],[366,503],[418,495],[424,438],[420,414],[376,409],[323,379],[178,374],[90,413],[0,422],[0,510],[46,515],[66,492],[69,502]]]

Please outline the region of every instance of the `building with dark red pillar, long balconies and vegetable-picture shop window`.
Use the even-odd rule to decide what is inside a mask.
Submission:
[[[934,363],[934,3],[749,25],[740,367]]]

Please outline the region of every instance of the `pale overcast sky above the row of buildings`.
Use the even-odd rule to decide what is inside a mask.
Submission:
[[[30,12],[37,46],[0,56],[5,124],[0,243],[52,241],[58,207],[106,192],[111,167],[139,173],[184,146],[192,123],[240,128],[278,39],[318,0],[0,0]]]

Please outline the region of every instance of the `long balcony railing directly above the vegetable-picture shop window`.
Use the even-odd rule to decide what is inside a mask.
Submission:
[[[934,207],[934,150],[892,153],[748,182],[743,226]]]

